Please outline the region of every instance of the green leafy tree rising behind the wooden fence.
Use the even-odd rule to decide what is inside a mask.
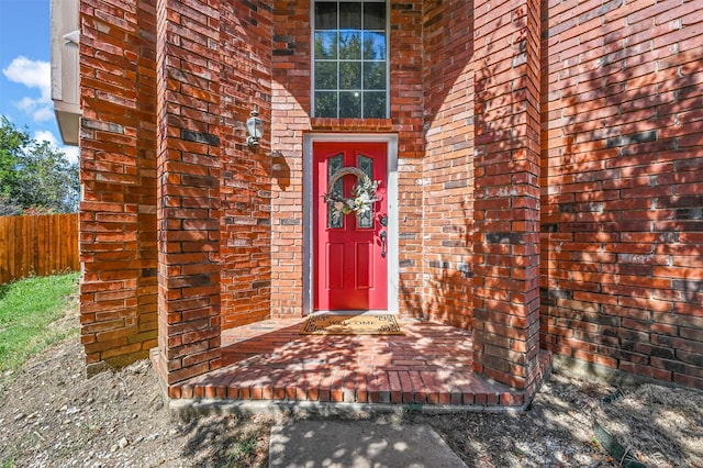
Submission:
[[[78,209],[78,165],[47,142],[0,116],[0,213],[18,209],[71,213]]]

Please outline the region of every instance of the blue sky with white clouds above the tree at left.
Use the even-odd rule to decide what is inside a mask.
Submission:
[[[0,0],[0,114],[75,161],[54,116],[49,60],[49,0]]]

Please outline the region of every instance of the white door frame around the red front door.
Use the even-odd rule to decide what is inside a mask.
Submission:
[[[384,142],[388,154],[388,312],[398,313],[398,135],[387,133],[308,133],[303,136],[303,315],[313,310],[313,216],[312,199],[314,142]]]

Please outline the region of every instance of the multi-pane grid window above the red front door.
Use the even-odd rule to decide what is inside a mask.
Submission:
[[[386,2],[316,1],[313,16],[314,116],[387,118]]]

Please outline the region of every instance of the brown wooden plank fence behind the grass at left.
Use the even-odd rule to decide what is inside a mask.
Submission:
[[[79,267],[77,213],[0,216],[0,283]]]

